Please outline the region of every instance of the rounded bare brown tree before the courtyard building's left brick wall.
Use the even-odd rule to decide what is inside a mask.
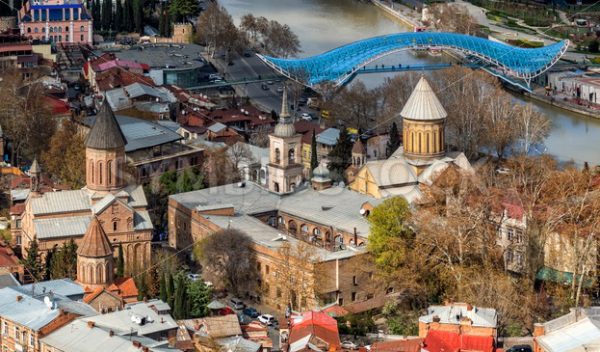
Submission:
[[[213,233],[194,248],[208,279],[234,294],[254,291],[256,258],[252,239],[237,229]]]

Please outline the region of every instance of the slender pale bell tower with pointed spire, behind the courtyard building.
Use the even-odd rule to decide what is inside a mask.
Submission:
[[[269,135],[269,190],[290,193],[302,182],[302,135],[296,133],[290,117],[287,88],[283,87],[281,113]]]

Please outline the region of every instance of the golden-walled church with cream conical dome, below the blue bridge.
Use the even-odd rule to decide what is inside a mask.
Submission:
[[[359,165],[360,169],[350,188],[375,198],[403,196],[412,202],[421,196],[419,185],[431,185],[447,167],[471,170],[463,153],[447,152],[447,116],[429,82],[422,76],[400,112],[403,145],[388,159],[353,162],[353,167]]]

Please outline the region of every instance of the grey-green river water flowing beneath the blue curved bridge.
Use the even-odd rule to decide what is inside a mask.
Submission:
[[[357,0],[219,0],[237,24],[246,13],[265,16],[287,24],[302,45],[299,56],[312,56],[338,46],[373,36],[412,30],[389,17],[375,6]],[[447,60],[442,57],[419,59],[409,52],[383,58],[377,63],[411,65]],[[358,76],[368,87],[381,84],[393,73]],[[538,102],[533,104],[552,122],[545,145],[550,154],[562,161],[600,164],[600,119],[570,113]]]

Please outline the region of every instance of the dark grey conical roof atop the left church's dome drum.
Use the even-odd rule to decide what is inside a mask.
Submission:
[[[125,136],[123,136],[123,132],[121,132],[115,114],[105,98],[98,114],[96,114],[94,126],[92,126],[85,140],[85,146],[93,149],[107,150],[123,148],[126,143],[127,141]]]

